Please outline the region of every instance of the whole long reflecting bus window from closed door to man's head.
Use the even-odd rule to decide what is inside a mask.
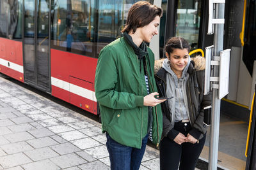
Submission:
[[[51,47],[98,57],[121,36],[129,8],[137,1],[51,0]]]

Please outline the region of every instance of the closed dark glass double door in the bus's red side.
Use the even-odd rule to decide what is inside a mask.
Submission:
[[[24,1],[24,81],[51,92],[49,0]]]

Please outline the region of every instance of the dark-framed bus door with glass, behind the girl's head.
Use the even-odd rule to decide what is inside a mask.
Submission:
[[[208,15],[204,15],[204,13],[208,11],[204,1],[170,0],[162,1],[162,6],[164,13],[160,23],[160,50],[164,48],[167,39],[173,36],[180,36],[188,40],[191,50],[205,47]],[[208,38],[208,36],[206,37]],[[212,39],[211,36],[210,39]],[[160,57],[163,56],[160,55]]]

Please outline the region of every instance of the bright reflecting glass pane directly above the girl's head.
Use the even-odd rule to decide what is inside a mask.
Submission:
[[[198,48],[201,0],[179,0],[176,20],[176,36],[187,39],[191,50]]]

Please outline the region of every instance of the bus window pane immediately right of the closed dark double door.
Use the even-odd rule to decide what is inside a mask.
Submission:
[[[92,5],[91,0],[52,0],[51,40],[54,48],[93,57]]]

